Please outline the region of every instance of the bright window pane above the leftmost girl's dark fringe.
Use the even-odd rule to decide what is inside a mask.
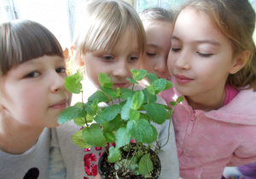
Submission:
[[[55,34],[63,49],[70,46],[72,30],[67,1],[0,0],[0,3],[0,12],[5,12],[1,13],[1,22],[15,19],[37,21]]]

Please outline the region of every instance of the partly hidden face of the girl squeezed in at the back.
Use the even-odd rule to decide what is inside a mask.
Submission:
[[[169,78],[167,58],[171,48],[173,26],[169,22],[146,21],[147,55],[143,69],[158,78]]]

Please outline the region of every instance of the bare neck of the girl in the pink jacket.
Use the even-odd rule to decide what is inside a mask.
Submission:
[[[193,110],[199,109],[202,111],[217,110],[224,106],[225,89],[212,94],[201,94],[196,96],[186,96],[189,106]]]

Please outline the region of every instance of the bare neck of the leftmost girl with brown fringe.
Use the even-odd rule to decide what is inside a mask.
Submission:
[[[44,128],[20,124],[3,113],[0,113],[0,149],[10,154],[25,153],[38,141]]]

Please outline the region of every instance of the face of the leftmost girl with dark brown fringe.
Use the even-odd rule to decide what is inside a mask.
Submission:
[[[32,59],[13,67],[1,77],[2,113],[15,126],[55,127],[71,101],[64,88],[66,63],[59,56]]]

